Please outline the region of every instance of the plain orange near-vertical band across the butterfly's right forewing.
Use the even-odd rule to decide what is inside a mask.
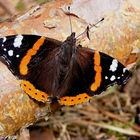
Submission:
[[[101,77],[101,72],[102,72],[102,67],[100,66],[100,53],[95,52],[94,54],[94,70],[96,72],[95,74],[95,82],[90,86],[90,89],[92,91],[96,91],[101,84],[102,77]]]

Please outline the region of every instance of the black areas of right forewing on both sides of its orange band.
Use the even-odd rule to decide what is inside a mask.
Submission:
[[[97,88],[96,91],[91,91],[90,86],[95,82],[95,75],[96,72],[94,70],[94,54],[95,51],[88,49],[88,48],[80,48],[79,49],[79,56],[77,58],[77,62],[83,71],[84,79],[86,83],[86,87],[88,87],[89,95],[96,95],[103,92],[107,87],[114,85],[114,84],[123,84],[125,83],[129,77],[131,76],[130,72],[125,69],[125,66],[122,65],[120,62],[117,63],[117,68],[115,71],[110,70],[110,66],[112,65],[112,61],[116,60],[115,58],[99,52],[100,54],[100,66],[102,68],[101,72],[101,83],[100,86]],[[124,72],[125,70],[125,72]],[[111,77],[115,77],[112,81],[110,80]],[[106,79],[107,78],[107,79]]]

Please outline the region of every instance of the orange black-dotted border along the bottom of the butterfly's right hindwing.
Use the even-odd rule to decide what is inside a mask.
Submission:
[[[71,106],[71,105],[77,105],[77,104],[87,102],[90,99],[91,99],[91,97],[87,93],[82,93],[77,96],[62,97],[62,98],[60,98],[59,103],[60,103],[60,105]]]

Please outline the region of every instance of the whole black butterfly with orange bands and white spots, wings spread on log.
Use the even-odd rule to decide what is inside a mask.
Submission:
[[[128,81],[131,74],[117,59],[76,41],[74,32],[64,42],[37,35],[7,36],[0,38],[0,57],[23,91],[43,103],[81,104]]]

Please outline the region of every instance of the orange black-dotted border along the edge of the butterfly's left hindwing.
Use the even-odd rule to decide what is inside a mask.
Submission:
[[[36,99],[37,101],[46,102],[48,100],[48,94],[36,89],[29,81],[22,80],[21,88],[30,97]]]

